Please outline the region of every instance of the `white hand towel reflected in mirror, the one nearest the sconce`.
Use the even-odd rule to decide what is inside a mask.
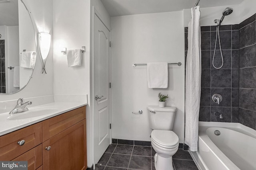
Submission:
[[[36,52],[26,51],[21,52],[20,66],[24,68],[33,68],[36,62]]]

